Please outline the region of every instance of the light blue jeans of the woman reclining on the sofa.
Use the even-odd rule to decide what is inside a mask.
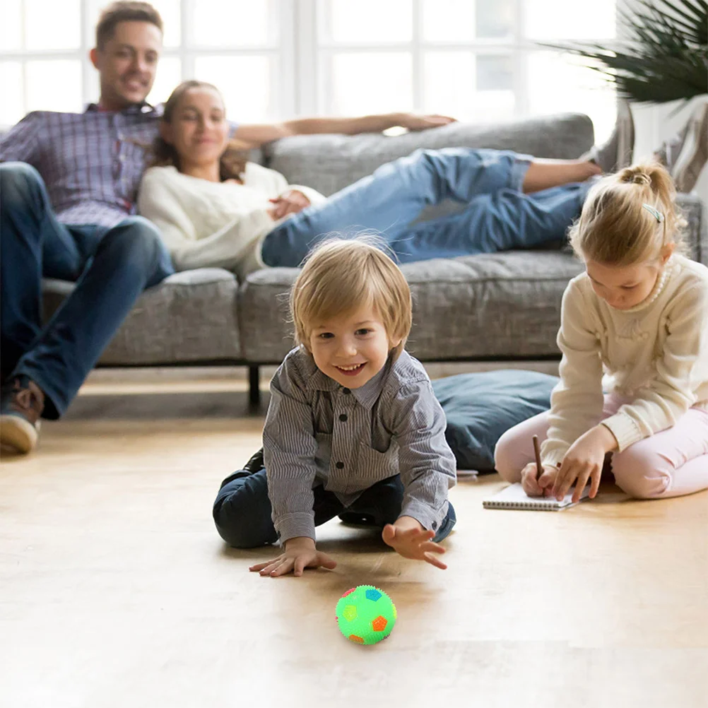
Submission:
[[[263,241],[263,262],[297,266],[332,232],[378,232],[399,263],[559,241],[580,215],[590,183],[523,194],[531,161],[528,155],[499,150],[416,150],[275,227]],[[424,207],[447,198],[466,206],[413,223]]]

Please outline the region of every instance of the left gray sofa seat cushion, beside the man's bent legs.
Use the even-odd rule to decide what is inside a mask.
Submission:
[[[46,319],[73,288],[63,280],[43,282]],[[171,275],[139,297],[99,364],[239,360],[236,292],[236,278],[221,268]]]

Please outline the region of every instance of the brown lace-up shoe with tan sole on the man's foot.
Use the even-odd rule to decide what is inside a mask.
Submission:
[[[17,452],[37,445],[45,396],[28,376],[15,376],[0,389],[0,444]]]

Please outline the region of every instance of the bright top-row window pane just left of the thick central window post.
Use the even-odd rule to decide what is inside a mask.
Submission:
[[[195,4],[191,43],[200,47],[255,47],[275,41],[265,0],[200,0]]]

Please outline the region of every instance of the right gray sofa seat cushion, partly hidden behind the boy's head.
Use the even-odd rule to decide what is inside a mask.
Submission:
[[[507,251],[408,263],[413,329],[423,361],[558,355],[561,297],[581,264],[566,251]],[[287,292],[295,268],[252,273],[239,292],[244,357],[280,362],[292,347]]]

